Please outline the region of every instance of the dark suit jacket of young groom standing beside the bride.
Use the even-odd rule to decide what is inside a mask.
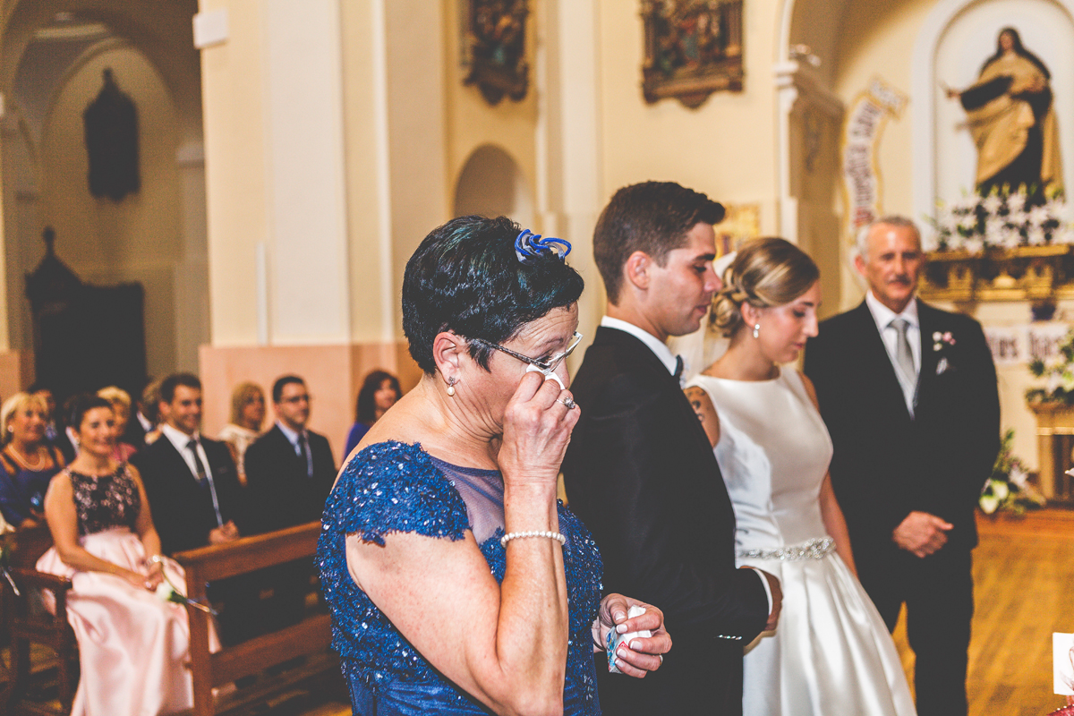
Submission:
[[[640,340],[599,327],[570,390],[570,507],[600,547],[605,590],[662,609],[673,642],[643,680],[601,674],[606,713],[741,713],[742,647],[768,601],[735,568],[735,512],[679,381]]]

